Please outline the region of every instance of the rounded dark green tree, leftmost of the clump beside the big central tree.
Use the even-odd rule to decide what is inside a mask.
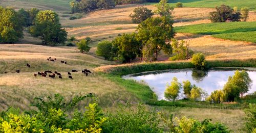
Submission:
[[[104,57],[105,60],[111,60],[111,58],[113,58],[112,43],[110,41],[103,41],[98,43],[96,54],[97,56]]]

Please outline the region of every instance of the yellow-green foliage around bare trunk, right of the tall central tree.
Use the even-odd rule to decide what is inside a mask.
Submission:
[[[185,44],[185,46],[184,46]],[[172,39],[173,56],[169,58],[170,61],[188,60],[194,54],[194,51],[189,49],[189,41],[182,40],[180,43],[176,39]]]

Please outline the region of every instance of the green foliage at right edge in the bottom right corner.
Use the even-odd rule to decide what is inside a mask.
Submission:
[[[249,108],[244,110],[246,114],[246,131],[253,132],[256,128],[256,104],[249,104]]]

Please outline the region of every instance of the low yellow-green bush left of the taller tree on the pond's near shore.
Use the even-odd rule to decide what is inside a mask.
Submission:
[[[226,95],[223,90],[215,90],[211,92],[211,95],[206,99],[210,103],[222,103],[225,101]]]

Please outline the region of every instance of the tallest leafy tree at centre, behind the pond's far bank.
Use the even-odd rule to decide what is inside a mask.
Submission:
[[[157,60],[158,53],[163,50],[167,55],[172,54],[172,46],[165,41],[174,38],[173,19],[170,16],[148,18],[141,22],[137,28],[139,40],[143,45],[143,58],[153,57]],[[146,51],[146,52],[145,52]]]

